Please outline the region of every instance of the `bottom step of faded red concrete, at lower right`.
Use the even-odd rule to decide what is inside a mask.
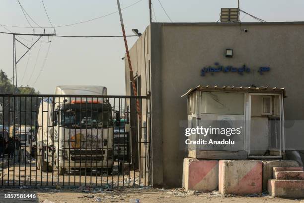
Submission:
[[[269,180],[268,193],[274,197],[304,198],[304,180]]]

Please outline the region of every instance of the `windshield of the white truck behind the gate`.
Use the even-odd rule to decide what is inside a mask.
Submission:
[[[79,109],[77,107],[63,109],[61,110],[61,125],[68,128],[113,126],[112,111],[105,111],[105,109]]]

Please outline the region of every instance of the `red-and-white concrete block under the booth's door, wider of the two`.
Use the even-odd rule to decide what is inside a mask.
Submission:
[[[220,160],[219,191],[223,195],[261,193],[262,170],[258,160]]]

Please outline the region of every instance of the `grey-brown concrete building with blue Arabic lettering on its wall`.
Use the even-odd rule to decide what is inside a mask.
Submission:
[[[190,88],[286,88],[285,120],[304,118],[304,22],[152,23],[130,56],[138,95],[151,93],[154,186],[182,185],[187,151],[180,147],[180,121],[187,120],[187,99],[181,95]],[[250,71],[231,71],[234,67]],[[132,95],[127,60],[125,77],[126,95]],[[285,136],[286,149],[303,150],[299,130]]]

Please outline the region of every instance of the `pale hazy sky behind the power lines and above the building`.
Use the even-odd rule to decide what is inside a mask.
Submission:
[[[41,0],[19,1],[37,24],[42,27],[51,26]],[[120,0],[121,7],[137,1],[139,0]],[[116,0],[43,0],[43,2],[54,26],[89,20],[117,11]],[[237,0],[160,0],[160,2],[173,22],[216,22],[219,20],[221,7],[237,7]],[[169,22],[159,1],[152,0],[152,5],[156,21]],[[304,21],[304,0],[240,0],[240,8],[266,21]],[[155,16],[153,14],[153,21]],[[127,34],[133,34],[132,28],[138,28],[143,32],[149,24],[148,0],[141,0],[124,9],[123,18]],[[244,14],[241,14],[240,19],[243,22],[256,21]],[[29,22],[32,26],[37,26],[31,19]],[[17,0],[1,0],[0,24],[30,27]],[[32,28],[6,28],[12,32],[33,32]],[[0,26],[0,31],[7,30]],[[43,29],[35,28],[35,32],[43,32]],[[53,32],[53,29],[46,28],[46,32]],[[56,34],[121,35],[119,14],[116,12],[87,23],[58,27]],[[28,41],[22,39],[21,41],[29,46],[32,37],[23,38]],[[136,37],[128,38],[129,47],[135,40]],[[18,86],[29,85],[42,94],[54,94],[58,85],[102,85],[108,88],[109,95],[125,95],[124,61],[121,60],[125,53],[123,38],[54,37],[50,45],[47,37],[44,37],[41,42],[32,48],[30,55],[27,54],[18,63]],[[0,47],[0,69],[12,77],[12,35],[0,34]],[[17,57],[23,54],[24,50],[22,45],[17,44]]]

